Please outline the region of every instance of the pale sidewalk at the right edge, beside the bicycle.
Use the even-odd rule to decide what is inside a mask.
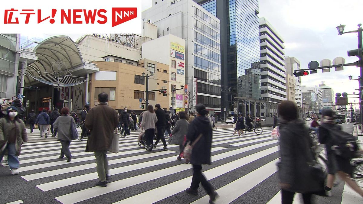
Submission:
[[[362,131],[359,130],[358,126],[354,126],[353,136],[357,136],[358,145],[360,148],[363,148],[363,136]],[[359,187],[363,188],[363,183],[357,182]],[[356,193],[353,189],[351,189],[347,184],[344,184],[343,195],[342,195],[342,204],[351,204],[351,203],[362,203],[363,199],[358,193]]]

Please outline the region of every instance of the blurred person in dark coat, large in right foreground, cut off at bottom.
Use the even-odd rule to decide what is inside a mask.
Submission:
[[[282,101],[278,106],[281,116],[280,162],[277,164],[283,204],[292,204],[295,193],[302,193],[305,204],[310,204],[313,192],[323,190],[311,174],[313,164],[311,139],[305,121],[297,118],[297,106],[292,101]]]

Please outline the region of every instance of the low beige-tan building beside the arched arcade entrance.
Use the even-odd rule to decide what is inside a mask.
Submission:
[[[168,89],[169,87],[169,65],[155,61],[142,59],[139,66],[125,64],[122,62],[94,61],[99,72],[90,76],[89,81],[89,101],[93,107],[98,104],[97,95],[101,92],[109,94],[109,105],[114,109],[121,110],[127,107],[137,114],[144,109],[140,108],[140,98],[145,98],[146,78],[142,73],[149,74],[147,66],[155,68],[155,73],[149,77],[149,90]],[[160,103],[163,109],[168,109],[168,93],[159,91],[149,92],[149,104],[155,106]],[[145,101],[143,101],[145,103]]]

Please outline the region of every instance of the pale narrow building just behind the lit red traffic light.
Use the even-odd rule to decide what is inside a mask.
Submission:
[[[293,76],[296,70],[300,69],[300,61],[295,57],[286,57],[286,74]],[[298,107],[302,107],[301,78],[295,77],[295,102]]]

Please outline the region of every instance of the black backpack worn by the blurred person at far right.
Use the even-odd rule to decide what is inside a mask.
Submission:
[[[353,135],[340,130],[337,126],[327,129],[333,139],[334,146],[331,148],[335,150],[335,154],[346,159],[359,157],[359,154],[357,154],[359,147]]]

